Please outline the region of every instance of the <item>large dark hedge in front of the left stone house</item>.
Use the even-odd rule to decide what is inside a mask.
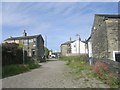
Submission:
[[[27,60],[27,52],[25,51],[25,60]],[[23,63],[23,50],[18,44],[5,43],[2,44],[2,66]]]

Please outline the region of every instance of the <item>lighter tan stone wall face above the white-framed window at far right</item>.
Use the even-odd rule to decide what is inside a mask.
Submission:
[[[106,20],[107,40],[108,40],[108,59],[113,60],[113,51],[118,51],[118,19]]]

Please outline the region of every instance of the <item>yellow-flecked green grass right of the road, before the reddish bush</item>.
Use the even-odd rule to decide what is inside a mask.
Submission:
[[[61,57],[60,60],[64,60],[66,65],[71,68],[71,73],[76,76],[76,78],[84,78],[85,76],[82,75],[83,71],[86,71],[89,77],[93,77],[91,72],[90,65],[86,62],[87,56],[69,56],[69,57]]]

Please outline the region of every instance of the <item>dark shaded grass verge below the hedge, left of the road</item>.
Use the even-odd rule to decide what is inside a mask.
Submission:
[[[27,64],[7,65],[2,67],[2,78],[27,72],[38,67],[40,67],[40,65],[34,61]]]

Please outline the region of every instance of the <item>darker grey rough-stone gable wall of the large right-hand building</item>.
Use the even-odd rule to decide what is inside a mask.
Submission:
[[[103,16],[95,16],[92,28],[92,52],[95,58],[107,58],[107,31]]]

